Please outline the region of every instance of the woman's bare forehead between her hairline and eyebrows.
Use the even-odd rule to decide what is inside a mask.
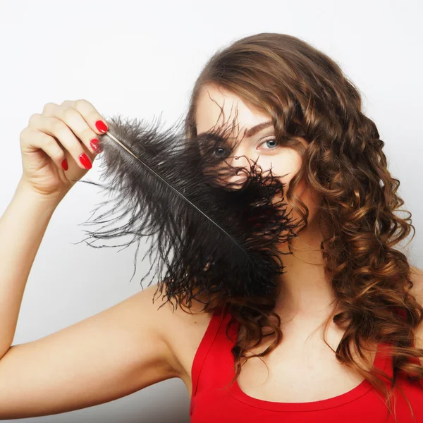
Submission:
[[[225,128],[234,125],[231,135],[237,136],[259,123],[269,121],[271,118],[268,114],[246,104],[237,94],[222,87],[204,85],[200,90],[195,113],[197,134],[222,125]]]

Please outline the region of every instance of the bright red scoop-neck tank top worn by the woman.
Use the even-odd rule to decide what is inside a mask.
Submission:
[[[229,312],[216,310],[192,362],[192,396],[190,423],[391,423],[388,408],[381,393],[375,391],[366,380],[350,391],[325,400],[308,403],[276,403],[247,396],[237,382],[228,386],[235,375],[234,359],[231,353],[233,342],[226,336],[226,324],[231,319]],[[236,339],[238,321],[228,334]],[[384,355],[387,344],[379,344],[374,365],[393,376],[392,361]],[[419,363],[419,359],[416,359]],[[388,381],[385,381],[388,386]],[[409,381],[399,374],[397,384],[403,389],[415,413],[415,422],[423,422],[423,383]],[[228,387],[227,387],[228,386]],[[399,423],[413,422],[405,398],[394,390],[396,415]]]

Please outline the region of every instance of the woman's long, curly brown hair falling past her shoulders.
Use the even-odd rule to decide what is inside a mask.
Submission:
[[[300,233],[307,228],[308,209],[293,194],[295,187],[304,178],[321,195],[320,251],[336,295],[334,309],[343,310],[324,321],[324,333],[331,319],[345,329],[334,351],[337,359],[379,389],[392,412],[398,372],[411,380],[423,378],[422,366],[409,360],[423,356],[423,350],[413,346],[423,307],[408,292],[413,286],[410,264],[394,248],[411,228],[414,238],[415,227],[410,212],[403,210],[408,214],[404,219],[395,214],[404,204],[397,194],[400,182],[388,171],[385,143],[362,113],[360,93],[335,61],[307,42],[278,33],[251,35],[217,51],[204,66],[188,106],[188,137],[197,135],[197,99],[206,84],[223,87],[269,114],[278,142],[301,155],[302,167],[290,180],[286,203],[301,217]],[[307,140],[307,148],[300,137]],[[291,241],[288,245],[292,254]],[[230,309],[227,335],[231,325],[239,323],[232,382],[241,362],[264,357],[281,342],[281,319],[273,311],[278,292],[266,298],[227,298],[225,304],[213,298],[207,302],[204,312]],[[273,341],[262,353],[246,355],[268,337]],[[325,337],[324,342],[331,348]],[[371,365],[367,371],[351,354],[351,345],[364,357],[367,343],[382,342],[392,347],[393,378]],[[378,375],[391,382],[391,389]]]

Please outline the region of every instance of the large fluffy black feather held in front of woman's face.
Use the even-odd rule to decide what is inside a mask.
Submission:
[[[161,129],[160,120],[149,124],[117,115],[106,123],[109,130],[100,136],[97,158],[102,159],[101,180],[108,182],[80,182],[97,185],[111,197],[93,214],[111,208],[82,223],[105,223],[85,231],[88,237],[82,241],[106,247],[87,239],[132,235],[114,246],[137,242],[139,247],[149,237],[147,252],[156,256],[152,266],[157,262],[154,276],[170,301],[269,295],[283,273],[278,245],[294,237],[297,227],[286,216],[278,176],[271,169],[264,172],[257,161],[248,160],[244,167],[228,164],[236,145],[227,135],[231,128],[188,138],[178,124]],[[240,172],[243,178],[231,182]]]

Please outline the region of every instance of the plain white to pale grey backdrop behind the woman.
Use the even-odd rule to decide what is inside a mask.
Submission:
[[[240,37],[283,32],[329,54],[359,87],[386,142],[423,267],[423,3],[406,1],[0,2],[0,214],[21,175],[20,131],[47,102],[85,98],[104,116],[173,123],[209,56]],[[98,162],[85,176],[95,180]],[[35,259],[13,344],[33,341],[141,290],[135,248],[94,249],[80,224],[102,194],[77,184],[49,223]],[[141,257],[141,256],[140,256]],[[1,258],[0,258],[1,259]],[[149,263],[139,264],[144,275]],[[144,283],[146,286],[147,283]],[[111,403],[23,422],[188,422],[185,385],[171,379]]]

